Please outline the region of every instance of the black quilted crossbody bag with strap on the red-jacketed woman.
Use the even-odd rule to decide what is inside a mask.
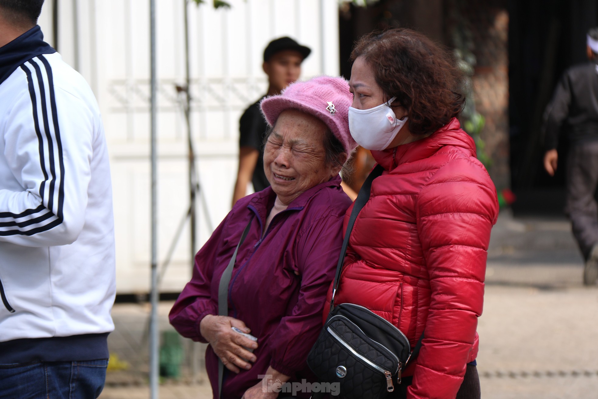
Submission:
[[[374,167],[359,190],[338,258],[330,313],[307,355],[307,365],[318,379],[338,383],[340,396],[347,399],[383,398],[394,391],[395,384],[401,383],[401,371],[417,357],[423,339],[422,334],[411,353],[405,334],[371,310],[353,303],[334,307],[353,224],[370,198],[372,181],[382,174],[382,170],[380,165]]]

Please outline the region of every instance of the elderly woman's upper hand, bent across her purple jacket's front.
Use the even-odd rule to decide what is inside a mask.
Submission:
[[[243,348],[243,346],[255,349],[258,345],[254,341],[234,332],[231,327],[237,327],[247,334],[251,331],[244,322],[238,319],[214,315],[205,316],[199,325],[199,330],[202,336],[208,340],[222,364],[228,370],[239,373],[239,368],[245,368],[245,370],[251,368],[251,364],[245,360],[255,362],[257,359],[254,354]]]

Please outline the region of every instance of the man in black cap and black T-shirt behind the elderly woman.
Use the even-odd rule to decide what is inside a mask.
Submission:
[[[301,74],[301,63],[311,52],[309,47],[288,37],[271,41],[264,50],[262,65],[268,75],[266,96],[280,94],[286,86],[297,80]],[[256,192],[270,185],[263,167],[263,141],[268,126],[260,111],[262,98],[250,105],[239,121],[239,172],[234,185],[233,205],[245,196],[249,181],[253,183]]]

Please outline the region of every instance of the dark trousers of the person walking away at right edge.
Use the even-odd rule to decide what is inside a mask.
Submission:
[[[565,212],[585,260],[598,243],[598,141],[573,145],[567,159]]]

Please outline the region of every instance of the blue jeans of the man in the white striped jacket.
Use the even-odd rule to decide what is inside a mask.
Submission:
[[[95,399],[108,360],[0,364],[0,399]]]

